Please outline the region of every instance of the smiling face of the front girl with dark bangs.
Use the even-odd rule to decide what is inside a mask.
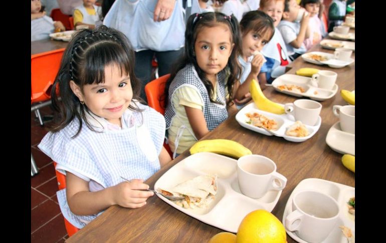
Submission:
[[[123,73],[121,76],[116,65],[105,67],[104,83],[85,85],[83,92],[79,87],[72,90],[92,113],[119,126],[120,118],[133,98],[129,75]]]

